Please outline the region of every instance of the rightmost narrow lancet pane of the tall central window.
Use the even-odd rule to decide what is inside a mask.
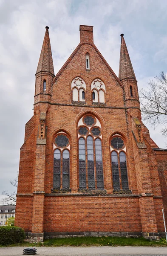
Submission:
[[[96,150],[96,180],[97,188],[104,188],[103,164],[102,164],[102,143],[100,139],[95,140]]]

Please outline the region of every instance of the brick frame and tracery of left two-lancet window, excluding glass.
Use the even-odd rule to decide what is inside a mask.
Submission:
[[[64,132],[63,133],[58,133],[58,134],[56,134],[55,136],[54,136],[54,142],[55,142],[55,139],[56,139],[56,137],[58,136],[58,135],[65,135],[66,137],[68,137],[68,140],[69,140],[69,143],[68,143],[68,145],[67,146],[65,146],[65,147],[55,147],[55,143],[54,143],[54,150],[53,150],[53,156],[54,156],[54,153],[55,153],[55,151],[57,151],[57,150],[59,150],[59,152],[60,152],[60,173],[59,173],[59,175],[60,175],[60,183],[59,183],[59,186],[54,186],[54,177],[55,177],[55,175],[54,175],[54,177],[53,177],[53,188],[54,189],[70,189],[70,179],[71,179],[71,177],[70,177],[70,169],[71,169],[71,150],[70,150],[70,148],[71,148],[71,139],[70,139],[70,137],[67,135],[67,134],[65,134]],[[65,164],[64,164],[64,162],[66,161],[66,160],[64,160],[65,158],[63,158],[63,153],[65,152],[65,150],[67,150],[68,151],[68,153],[69,153],[69,160],[68,160],[68,166],[65,166]],[[55,162],[55,160],[53,160],[53,163]],[[55,167],[55,164],[53,164],[54,165],[54,167]],[[54,167],[53,167],[53,170],[54,170]],[[69,179],[68,179],[68,186],[65,186],[64,185],[64,181],[66,181],[66,183],[67,183],[67,179],[65,178],[65,174],[67,174],[67,173],[65,173],[65,170],[64,170],[64,168],[68,168],[68,176],[69,176]],[[67,170],[66,170],[67,171]],[[54,173],[55,173],[55,170],[54,170]]]

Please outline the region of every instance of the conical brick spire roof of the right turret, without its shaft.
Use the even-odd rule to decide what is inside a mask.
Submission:
[[[124,39],[124,34],[121,34],[121,51],[119,60],[119,79],[134,78],[136,79],[129,53]]]

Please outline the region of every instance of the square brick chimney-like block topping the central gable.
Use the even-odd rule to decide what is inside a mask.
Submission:
[[[93,44],[93,26],[79,26],[80,43]]]

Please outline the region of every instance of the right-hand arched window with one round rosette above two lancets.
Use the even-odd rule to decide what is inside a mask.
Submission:
[[[121,137],[113,137],[110,141],[111,166],[113,173],[113,189],[128,189],[126,146]]]

